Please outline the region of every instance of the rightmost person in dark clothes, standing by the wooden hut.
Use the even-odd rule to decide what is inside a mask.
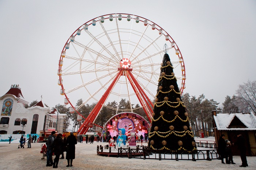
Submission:
[[[237,135],[236,144],[237,144],[238,150],[240,151],[240,157],[242,161],[242,165],[240,165],[240,167],[246,167],[248,166],[248,164],[246,159],[246,146],[245,146],[244,136],[242,136],[241,134]]]

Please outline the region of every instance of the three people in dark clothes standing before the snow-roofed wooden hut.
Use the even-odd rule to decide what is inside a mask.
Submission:
[[[248,166],[247,160],[246,160],[246,146],[245,146],[245,139],[244,137],[239,134],[237,135],[237,142],[235,143],[238,147],[238,150],[240,151],[240,157],[242,161],[242,165],[240,167],[246,167]],[[218,140],[218,153],[221,157],[221,163],[224,162],[224,158],[226,160],[226,164],[236,164],[233,161],[233,152],[232,152],[232,146],[234,143],[231,144],[229,140],[225,140],[225,135],[222,134],[221,138]]]

